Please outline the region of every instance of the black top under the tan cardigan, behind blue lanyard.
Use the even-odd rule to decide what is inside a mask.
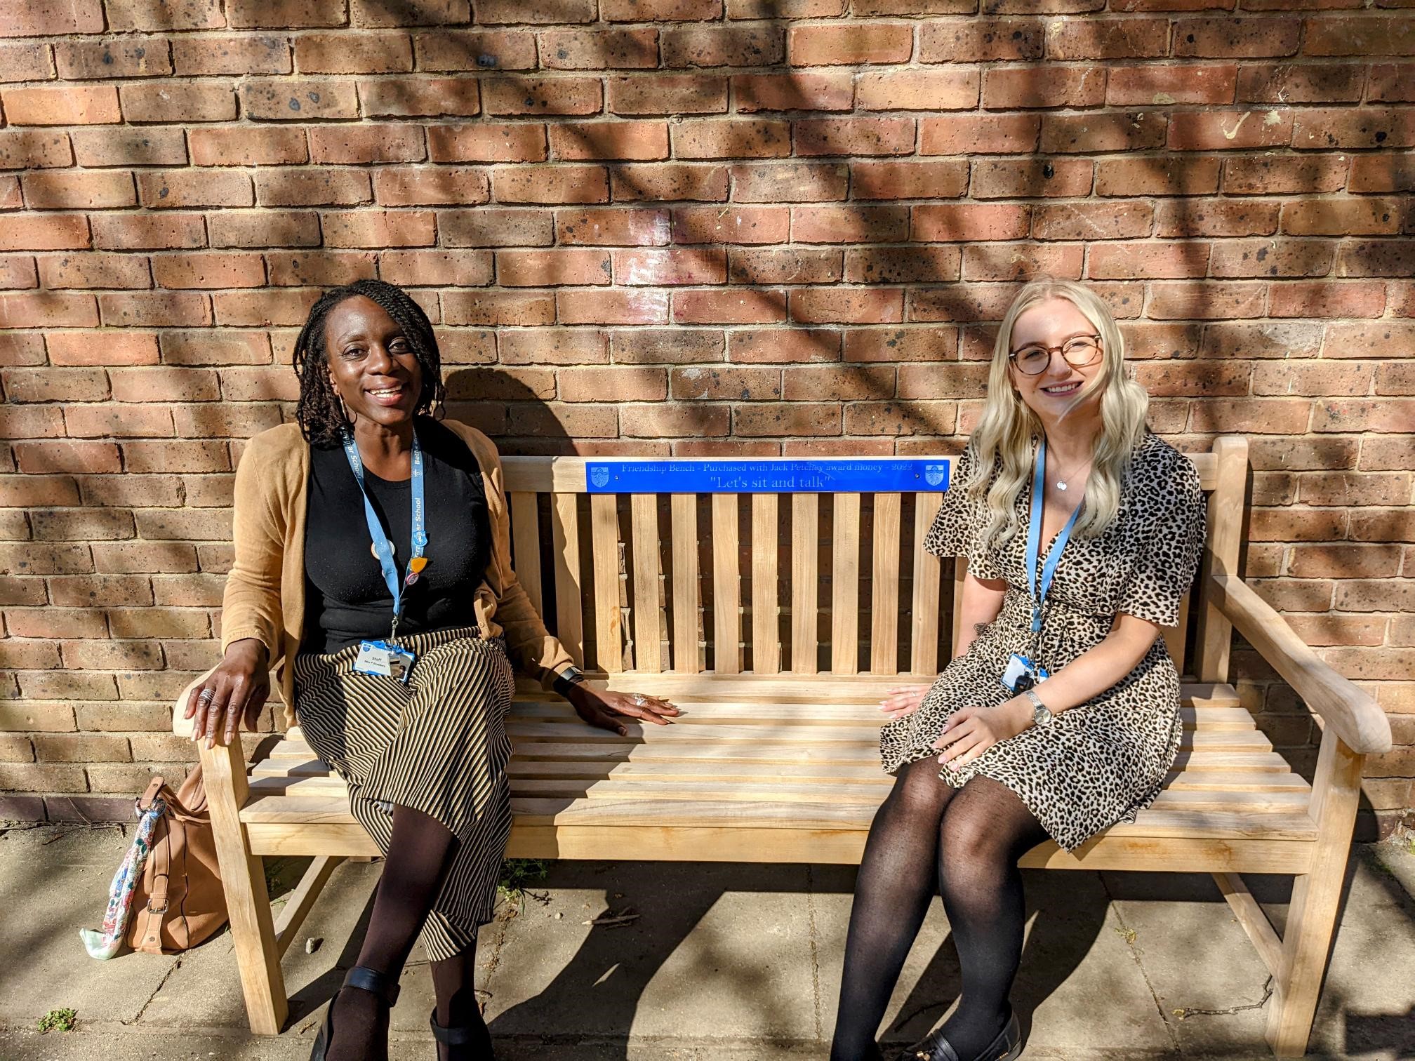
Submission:
[[[403,590],[399,635],[475,625],[471,603],[491,562],[491,516],[477,458],[430,417],[419,416],[413,430],[423,447],[427,566]],[[412,556],[412,481],[389,482],[364,468],[364,482],[402,577]],[[344,450],[311,447],[301,652],[337,652],[388,637],[393,598],[371,546],[364,498]]]

